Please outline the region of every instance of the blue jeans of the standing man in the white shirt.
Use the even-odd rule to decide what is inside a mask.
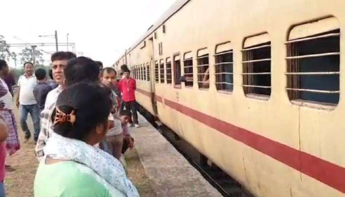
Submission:
[[[30,113],[31,118],[34,123],[34,140],[37,141],[38,139],[38,134],[39,134],[39,109],[37,104],[33,105],[20,105],[19,106],[20,110],[20,127],[25,133],[25,138],[30,138],[31,132],[28,128],[28,124],[26,123],[26,120],[28,118],[28,113]]]

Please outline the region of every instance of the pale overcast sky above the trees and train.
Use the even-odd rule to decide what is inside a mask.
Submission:
[[[75,43],[77,55],[111,66],[175,0],[1,0],[0,35],[7,43]],[[55,47],[40,47],[44,64]],[[23,48],[11,47],[19,53]],[[67,50],[67,47],[59,47]],[[71,48],[69,47],[69,50]],[[14,62],[10,62],[14,67]],[[20,63],[17,64],[17,67]]]

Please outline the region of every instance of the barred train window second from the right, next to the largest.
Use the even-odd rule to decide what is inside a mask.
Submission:
[[[247,97],[271,96],[271,41],[268,33],[247,37],[242,49],[243,90]],[[259,97],[257,97],[259,96]]]

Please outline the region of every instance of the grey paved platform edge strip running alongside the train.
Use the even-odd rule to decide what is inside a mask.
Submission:
[[[157,197],[222,197],[143,116],[131,128],[138,157]]]

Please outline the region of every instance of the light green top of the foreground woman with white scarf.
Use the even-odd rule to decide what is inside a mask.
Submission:
[[[125,197],[95,171],[76,162],[44,164],[37,168],[35,197]]]

